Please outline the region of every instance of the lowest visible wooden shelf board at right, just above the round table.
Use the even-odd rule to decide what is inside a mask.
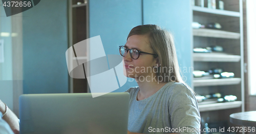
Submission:
[[[213,104],[202,104],[198,106],[199,106],[200,112],[206,112],[206,111],[239,108],[241,105],[242,105],[242,101],[233,101],[233,102],[223,102],[223,103],[213,103]]]

